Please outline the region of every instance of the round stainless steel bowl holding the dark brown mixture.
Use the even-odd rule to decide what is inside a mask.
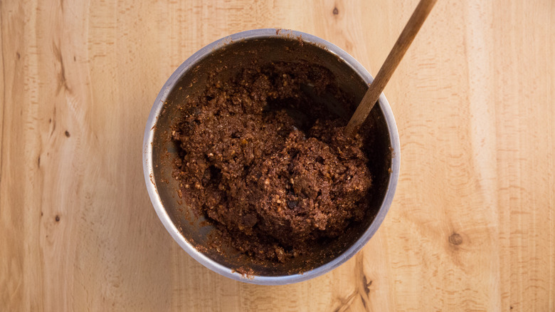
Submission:
[[[236,73],[241,64],[253,61],[308,61],[329,68],[337,77],[339,88],[361,100],[373,78],[359,62],[332,43],[308,33],[280,29],[256,29],[221,38],[194,53],[170,76],[158,94],[144,130],[144,180],[158,217],[177,241],[196,261],[223,276],[252,284],[279,285],[306,281],[322,275],[354,256],[374,235],[386,217],[399,175],[399,139],[393,113],[384,94],[372,110],[366,129],[373,151],[370,169],[373,175],[371,210],[364,222],[352,224],[339,238],[318,246],[312,258],[297,257],[285,264],[260,264],[222,246],[218,252],[208,244],[213,227],[204,217],[195,216],[177,194],[178,184],[171,177],[176,146],[171,141],[171,125],[179,116],[177,106],[189,96],[206,88],[208,73],[215,68],[222,79]],[[346,110],[345,108],[341,108]],[[351,114],[352,111],[345,111]],[[252,269],[244,276],[240,269]],[[302,273],[301,273],[302,272]]]

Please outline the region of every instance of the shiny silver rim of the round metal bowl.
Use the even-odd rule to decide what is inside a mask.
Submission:
[[[201,59],[208,56],[208,54],[211,54],[214,51],[223,48],[223,46],[236,41],[252,40],[258,38],[299,38],[305,43],[312,43],[316,46],[324,48],[328,53],[332,53],[338,58],[341,58],[360,78],[366,81],[366,83],[371,83],[372,80],[374,80],[370,73],[366,71],[366,68],[364,68],[364,66],[356,61],[351,55],[349,55],[349,53],[343,51],[338,46],[335,46],[334,44],[329,43],[322,38],[311,35],[310,33],[303,33],[301,31],[293,31],[290,29],[260,28],[249,31],[242,31],[239,33],[233,33],[230,36],[218,39],[213,43],[204,46],[192,56],[187,58],[186,61],[181,63],[181,65],[174,71],[174,73],[171,74],[166,83],[164,83],[162,90],[160,90],[156,100],[154,100],[154,105],[152,105],[152,109],[150,110],[149,118],[147,120],[147,125],[144,129],[144,140],[142,145],[143,173],[144,181],[147,184],[147,190],[150,200],[152,202],[152,205],[154,206],[154,209],[156,210],[160,221],[162,221],[162,224],[164,224],[166,230],[169,232],[169,234],[171,234],[171,237],[174,238],[177,244],[179,244],[179,246],[181,246],[181,248],[184,249],[187,254],[192,256],[196,261],[199,261],[199,263],[203,266],[206,266],[206,268],[236,281],[259,285],[285,285],[297,283],[300,281],[307,281],[309,279],[313,279],[317,276],[321,276],[322,274],[332,271],[332,269],[337,268],[337,266],[340,266],[345,261],[354,256],[358,251],[360,251],[360,249],[362,249],[366,242],[368,242],[370,238],[374,236],[379,226],[384,221],[389,207],[391,206],[391,202],[393,201],[393,194],[395,194],[401,162],[399,136],[391,107],[384,93],[381,93],[379,97],[379,105],[382,112],[384,113],[384,118],[389,132],[389,140],[391,142],[391,148],[393,149],[391,158],[391,175],[389,176],[386,196],[384,197],[384,201],[381,203],[381,207],[379,208],[376,217],[374,217],[374,221],[371,222],[370,226],[366,229],[364,234],[362,234],[359,239],[357,239],[355,243],[349,247],[349,249],[344,251],[332,261],[329,261],[326,264],[322,264],[322,266],[318,266],[314,269],[311,269],[310,271],[305,271],[302,274],[291,274],[282,276],[244,276],[243,274],[238,273],[232,268],[223,266],[222,264],[219,264],[208,256],[202,254],[200,251],[195,249],[194,246],[192,246],[189,241],[184,238],[183,235],[181,235],[179,229],[177,229],[175,224],[171,222],[171,218],[169,217],[169,214],[166,212],[166,209],[164,209],[164,206],[162,204],[162,199],[159,197],[156,187],[156,181],[154,180],[154,163],[152,159],[152,142],[154,140],[155,130],[154,126],[157,123],[159,114],[162,112],[162,108],[164,106],[166,98],[171,93],[171,90],[173,90],[176,83],[179,82],[179,79],[184,75],[184,73],[186,73],[186,71],[194,68],[196,63],[201,61]]]

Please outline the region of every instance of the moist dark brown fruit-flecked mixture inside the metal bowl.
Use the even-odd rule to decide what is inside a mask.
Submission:
[[[181,149],[173,176],[218,239],[284,262],[364,218],[371,175],[363,137],[344,136],[348,120],[310,96],[351,105],[329,70],[269,63],[215,77],[184,103],[172,137]]]

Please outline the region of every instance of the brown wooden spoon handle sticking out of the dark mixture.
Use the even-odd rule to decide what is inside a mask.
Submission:
[[[403,32],[399,35],[399,38],[397,38],[393,48],[391,48],[384,65],[381,66],[376,78],[371,83],[368,90],[366,90],[364,98],[362,98],[351,120],[349,120],[347,127],[345,127],[346,135],[350,137],[356,135],[360,125],[364,123],[364,120],[368,117],[381,92],[386,88],[389,78],[391,78],[391,75],[393,75],[401,59],[405,56],[408,47],[411,46],[416,33],[418,33],[422,24],[424,24],[425,19],[428,17],[428,14],[430,14],[430,11],[432,11],[436,1],[438,0],[421,0],[418,3],[411,19],[408,20]]]

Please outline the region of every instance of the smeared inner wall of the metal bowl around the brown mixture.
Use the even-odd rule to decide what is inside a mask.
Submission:
[[[388,189],[391,175],[391,142],[388,126],[379,105],[376,105],[361,132],[368,133],[365,148],[369,151],[369,168],[372,172],[371,209],[364,222],[351,224],[351,227],[337,239],[326,241],[317,246],[317,252],[311,257],[297,257],[285,264],[260,263],[248,256],[239,254],[230,246],[222,246],[218,252],[210,246],[209,236],[213,227],[203,216],[196,216],[190,207],[182,202],[177,194],[179,183],[171,177],[173,160],[176,157],[176,145],[171,140],[171,125],[179,118],[179,105],[194,97],[206,88],[209,73],[217,73],[221,80],[237,73],[244,64],[288,61],[306,61],[327,67],[337,78],[339,88],[352,96],[352,103],[359,103],[366,91],[367,84],[339,56],[327,51],[322,46],[302,42],[299,38],[275,36],[270,38],[251,38],[229,42],[215,48],[208,55],[196,60],[172,86],[154,127],[152,142],[152,162],[154,172],[152,180],[171,222],[176,225],[181,235],[197,251],[213,261],[233,269],[252,269],[256,276],[285,276],[308,271],[340,256],[364,234],[374,221]],[[354,112],[353,107],[337,108],[347,115]]]

